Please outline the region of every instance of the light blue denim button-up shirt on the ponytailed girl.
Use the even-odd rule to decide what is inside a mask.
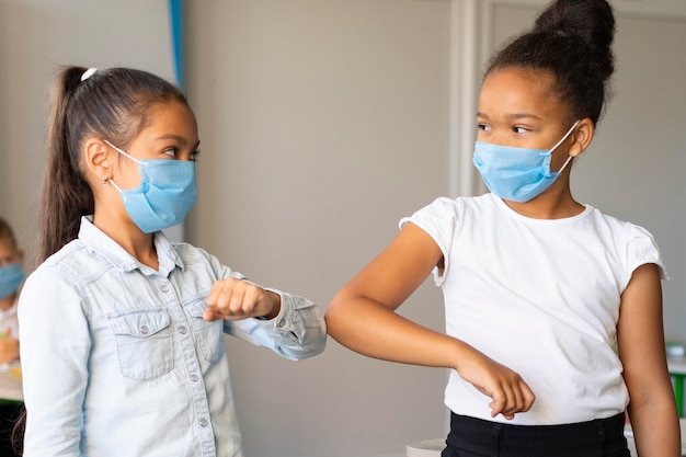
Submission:
[[[278,293],[271,321],[203,320],[217,279],[244,278],[155,235],[159,272],[81,221],[19,305],[25,457],[242,456],[222,333],[290,359],[324,350],[316,305]]]

